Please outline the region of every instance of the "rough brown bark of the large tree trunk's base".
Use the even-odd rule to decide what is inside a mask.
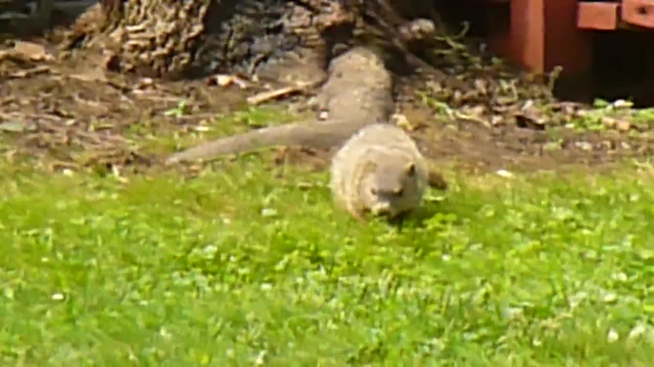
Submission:
[[[102,0],[80,17],[65,46],[99,47],[109,69],[164,78],[252,74],[291,55],[324,68],[334,46],[376,42],[402,50],[410,44],[402,38],[411,33],[408,21],[436,20],[430,1],[390,3]]]

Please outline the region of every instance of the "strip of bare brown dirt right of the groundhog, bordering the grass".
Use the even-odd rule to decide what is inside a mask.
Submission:
[[[628,157],[651,155],[651,140],[619,133],[534,131],[515,126],[489,129],[470,122],[433,126],[416,133],[426,155],[442,164],[458,163],[471,172],[566,170],[598,167]]]

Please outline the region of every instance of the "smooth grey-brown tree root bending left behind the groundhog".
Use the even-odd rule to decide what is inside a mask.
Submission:
[[[352,48],[332,59],[329,74],[317,96],[321,107],[328,111],[326,121],[309,118],[226,136],[175,153],[165,163],[213,159],[271,146],[330,149],[343,144],[368,123],[388,121],[394,109],[392,78],[376,51],[362,46]]]

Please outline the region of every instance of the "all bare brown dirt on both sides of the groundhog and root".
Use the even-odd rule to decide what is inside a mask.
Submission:
[[[58,31],[29,40],[21,52],[7,53],[14,44],[5,38],[0,48],[0,152],[39,157],[50,168],[131,167],[157,169],[169,153],[141,144],[139,136],[171,135],[192,130],[200,121],[245,105],[261,86],[222,87],[209,80],[164,82],[101,72],[97,55],[85,50],[57,55]],[[17,47],[21,47],[18,44]],[[44,53],[43,53],[44,52]],[[94,59],[95,57],[95,59]],[[402,79],[398,94],[407,95],[422,82]],[[409,93],[410,94],[410,93]],[[188,111],[168,116],[186,99]],[[438,163],[456,162],[473,172],[558,169],[565,165],[598,167],[624,157],[643,157],[651,140],[627,133],[578,132],[571,129],[519,127],[506,119],[487,127],[475,121],[444,123],[415,98],[403,97],[398,110],[427,155]],[[147,126],[145,129],[135,129]],[[292,150],[291,162],[324,165],[324,155]],[[275,161],[282,161],[279,154]]]

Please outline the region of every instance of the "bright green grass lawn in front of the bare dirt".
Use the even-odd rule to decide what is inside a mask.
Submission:
[[[647,175],[453,175],[392,227],[336,210],[325,173],[275,179],[252,156],[194,180],[1,171],[2,366],[654,356]]]

